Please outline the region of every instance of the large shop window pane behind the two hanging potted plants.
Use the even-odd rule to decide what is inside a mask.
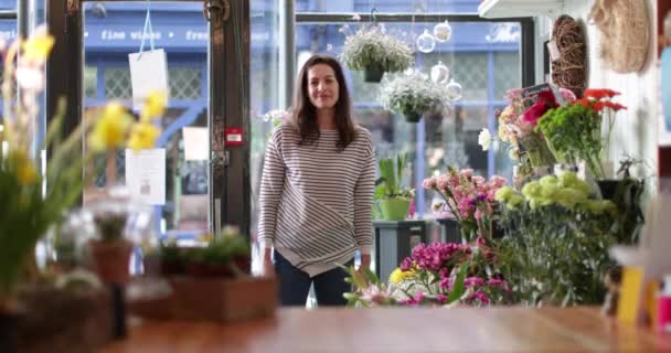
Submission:
[[[390,3],[390,2],[385,2]],[[380,8],[380,6],[377,6]],[[416,50],[415,40],[436,23],[383,23],[392,34]],[[512,175],[507,151],[482,151],[478,135],[483,128],[496,133],[494,108],[500,107],[508,88],[520,87],[519,24],[492,22],[450,23],[452,39],[437,43],[436,49],[415,55],[416,68],[425,74],[439,62],[447,65],[450,78],[462,86],[462,98],[445,111],[424,115],[419,124],[408,124],[386,111],[379,103],[376,83],[364,83],[361,72],[345,67],[359,122],[369,128],[379,158],[406,151],[413,161],[406,181],[417,190],[418,210],[430,216],[432,192],[423,192],[422,181],[447,165],[472,168],[476,173]],[[358,23],[298,23],[296,46],[298,67],[312,53],[340,55],[345,34],[358,30]]]

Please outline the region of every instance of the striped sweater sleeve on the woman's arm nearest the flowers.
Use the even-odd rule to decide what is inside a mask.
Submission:
[[[373,243],[372,206],[375,186],[375,151],[371,135],[368,130],[362,133],[366,138],[366,157],[362,163],[361,174],[354,189],[354,231],[355,240],[361,254],[371,254]]]

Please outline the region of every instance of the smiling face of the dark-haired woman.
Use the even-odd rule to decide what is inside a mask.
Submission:
[[[317,64],[308,69],[308,94],[317,109],[330,109],[338,103],[340,85],[336,72],[327,64]]]

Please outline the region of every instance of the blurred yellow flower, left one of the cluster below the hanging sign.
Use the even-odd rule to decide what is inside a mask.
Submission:
[[[132,117],[124,106],[108,104],[89,136],[90,147],[99,151],[124,146],[131,122]]]

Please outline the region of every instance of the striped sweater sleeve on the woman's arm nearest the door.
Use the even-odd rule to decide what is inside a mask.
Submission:
[[[277,207],[285,183],[286,167],[281,157],[281,127],[278,127],[266,147],[264,169],[260,182],[258,242],[263,248],[269,248],[275,240]]]

